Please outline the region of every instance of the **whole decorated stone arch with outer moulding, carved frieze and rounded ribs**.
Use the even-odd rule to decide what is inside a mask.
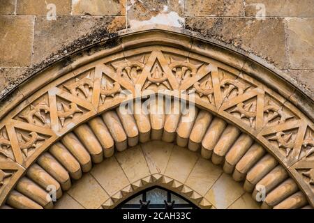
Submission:
[[[193,100],[195,115],[152,114],[164,100],[149,115],[116,109],[156,93],[172,105]],[[0,202],[49,208],[40,187],[61,194],[114,148],[163,140],[222,164],[248,192],[265,185],[262,207],[313,206],[312,105],[280,75],[223,47],[169,31],[125,33],[46,68],[3,102]]]

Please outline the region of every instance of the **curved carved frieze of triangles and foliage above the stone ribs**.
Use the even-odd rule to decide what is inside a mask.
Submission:
[[[281,164],[293,167],[302,188],[313,187],[313,123],[267,86],[230,66],[174,47],[141,47],[108,58],[36,89],[8,113],[0,121],[0,164],[10,160],[28,168],[54,141],[130,95],[137,97],[136,91],[185,91],[178,97],[191,96],[199,107],[250,134]],[[5,187],[15,176],[10,168],[0,172]],[[313,190],[308,191],[313,196]],[[198,199],[197,194],[189,196]]]

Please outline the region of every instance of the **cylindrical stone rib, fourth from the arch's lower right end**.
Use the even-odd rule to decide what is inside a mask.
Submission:
[[[265,155],[262,159],[255,164],[255,166],[248,171],[246,175],[246,181],[244,182],[244,190],[246,192],[252,192],[255,185],[266,174],[268,174],[277,165],[277,160],[270,154]]]

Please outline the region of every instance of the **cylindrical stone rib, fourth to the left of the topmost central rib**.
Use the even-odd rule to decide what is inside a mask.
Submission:
[[[114,155],[114,140],[112,139],[107,126],[103,122],[103,119],[100,117],[93,118],[89,121],[89,126],[96,135],[101,146],[103,146],[104,157],[112,157],[112,155]]]

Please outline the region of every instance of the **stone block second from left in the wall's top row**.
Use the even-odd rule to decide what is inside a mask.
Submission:
[[[71,13],[70,0],[18,0],[16,7],[17,15],[47,15],[51,7],[49,4],[56,6],[57,15],[67,15]]]

